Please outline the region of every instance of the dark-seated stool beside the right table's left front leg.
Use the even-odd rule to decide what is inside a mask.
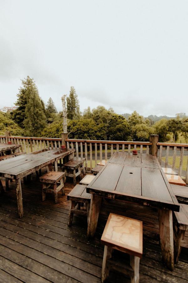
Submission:
[[[86,192],[86,186],[76,185],[74,189],[67,195],[67,199],[70,200],[68,226],[72,225],[72,219],[74,214],[86,215],[88,223],[91,194]],[[80,209],[81,203],[86,204],[86,210]],[[77,204],[78,208],[76,209],[75,207]]]

